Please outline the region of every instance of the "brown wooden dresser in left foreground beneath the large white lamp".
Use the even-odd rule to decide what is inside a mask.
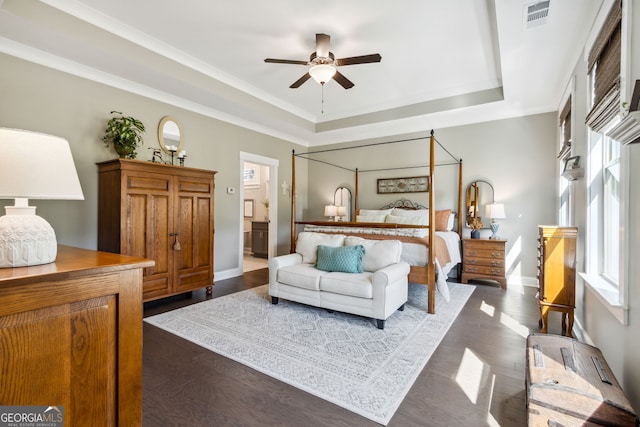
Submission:
[[[153,261],[58,247],[0,269],[0,404],[59,406],[65,426],[142,425],[142,269]]]

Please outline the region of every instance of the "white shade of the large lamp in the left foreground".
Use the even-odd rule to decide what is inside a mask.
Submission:
[[[69,143],[0,128],[0,198],[84,200]]]

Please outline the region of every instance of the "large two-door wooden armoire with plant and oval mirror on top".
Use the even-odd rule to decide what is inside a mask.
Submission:
[[[155,261],[144,270],[144,301],[211,293],[215,174],[128,159],[98,164],[98,249]]]

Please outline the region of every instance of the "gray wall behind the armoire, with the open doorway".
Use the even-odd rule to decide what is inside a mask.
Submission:
[[[97,248],[96,163],[117,157],[112,148],[105,148],[101,142],[111,110],[135,116],[145,124],[145,144],[138,149],[138,159],[151,159],[148,148],[158,147],[158,123],[162,117],[171,115],[182,123],[184,149],[188,153],[186,166],[218,171],[216,272],[236,271],[239,267],[239,229],[242,227],[239,153],[278,159],[279,181],[285,179],[290,183],[291,151],[300,149],[295,144],[8,55],[0,55],[0,69],[0,126],[61,136],[71,145],[85,200],[33,200],[30,203],[51,223],[61,244]],[[304,168],[300,175],[301,185],[306,185]],[[235,194],[227,194],[227,187],[235,188]],[[279,191],[277,202],[277,252],[287,253],[291,199]],[[13,201],[0,200],[2,214],[7,204]]]

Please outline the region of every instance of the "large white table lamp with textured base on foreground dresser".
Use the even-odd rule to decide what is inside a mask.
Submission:
[[[69,143],[0,128],[0,153],[0,199],[15,199],[0,217],[0,268],[51,263],[58,253],[55,232],[29,199],[84,199]]]

